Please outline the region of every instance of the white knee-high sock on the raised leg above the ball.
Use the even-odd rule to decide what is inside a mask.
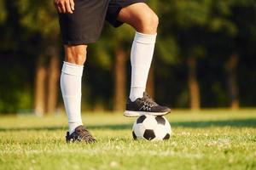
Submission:
[[[154,54],[156,34],[136,32],[131,46],[131,101],[143,97],[148,80],[148,71]]]

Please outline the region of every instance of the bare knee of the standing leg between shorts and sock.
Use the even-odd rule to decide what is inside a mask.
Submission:
[[[65,45],[65,61],[75,65],[84,65],[86,48],[86,45]]]

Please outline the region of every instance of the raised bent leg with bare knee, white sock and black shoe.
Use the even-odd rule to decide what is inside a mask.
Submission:
[[[157,105],[148,94],[144,93],[154,54],[159,22],[157,15],[146,3],[135,3],[122,8],[117,20],[133,26],[137,31],[131,47],[131,92],[125,116],[167,114],[170,112],[169,108]]]

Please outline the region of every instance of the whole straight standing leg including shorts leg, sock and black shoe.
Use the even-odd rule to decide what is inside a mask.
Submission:
[[[100,37],[108,0],[74,1],[73,14],[59,14],[65,62],[61,71],[61,93],[67,112],[67,142],[93,142],[81,119],[81,83],[86,59],[86,45]],[[85,17],[86,16],[86,17]]]

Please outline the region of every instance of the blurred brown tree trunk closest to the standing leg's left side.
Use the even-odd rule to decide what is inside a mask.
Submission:
[[[57,50],[57,49],[55,49]],[[48,69],[48,91],[47,91],[47,113],[52,114],[56,111],[59,93],[59,79],[60,79],[60,58],[58,54],[53,53],[49,60]]]

